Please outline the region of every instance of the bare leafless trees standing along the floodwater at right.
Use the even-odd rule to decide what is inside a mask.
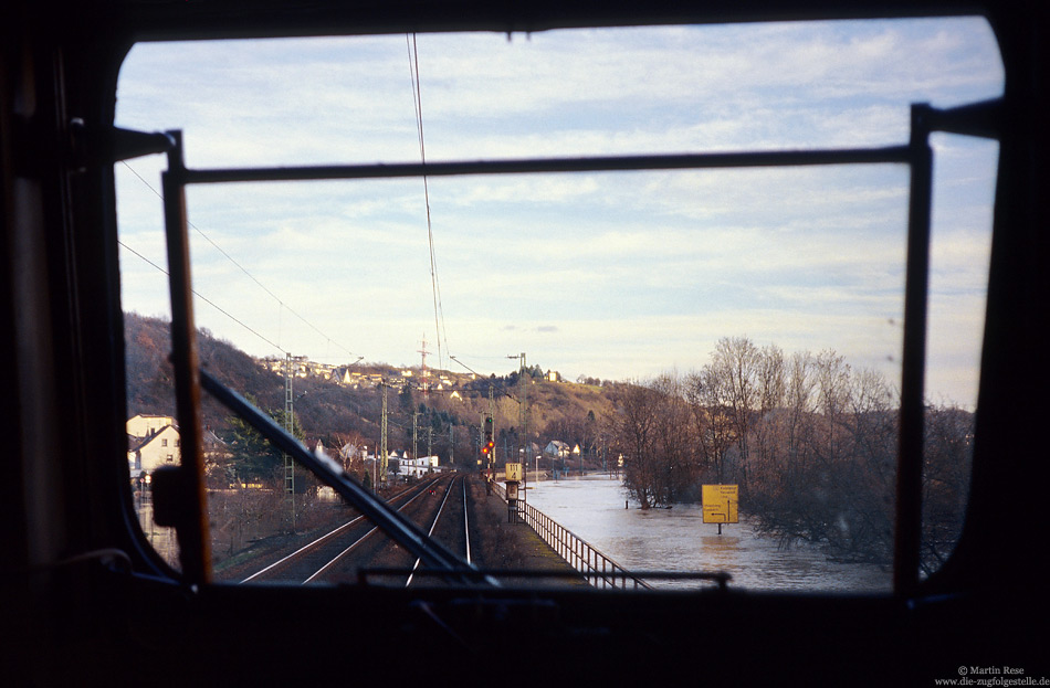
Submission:
[[[787,356],[746,337],[717,342],[700,371],[617,385],[607,419],[624,484],[643,508],[739,485],[755,528],[838,558],[889,562],[899,395],[834,351]],[[951,553],[968,493],[973,414],[926,410],[923,568]]]

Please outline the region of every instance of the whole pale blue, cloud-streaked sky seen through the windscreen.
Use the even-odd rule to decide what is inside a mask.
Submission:
[[[199,169],[418,162],[417,112],[430,162],[876,147],[907,141],[912,103],[996,97],[1002,78],[979,19],[146,43],[116,124],[181,129]],[[926,393],[973,406],[998,150],[932,142]],[[116,166],[122,298],[147,316],[169,314],[164,163]],[[418,366],[426,338],[430,367],[503,374],[525,352],[569,380],[699,370],[746,336],[895,383],[907,180],[878,165],[192,186],[197,324],[259,357]]]

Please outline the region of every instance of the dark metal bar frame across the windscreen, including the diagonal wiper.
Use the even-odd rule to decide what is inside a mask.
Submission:
[[[904,287],[904,338],[901,374],[901,407],[896,474],[893,590],[911,595],[920,582],[922,540],[923,413],[926,357],[927,292],[932,204],[933,151],[930,136],[945,131],[965,136],[997,138],[1001,99],[949,109],[927,104],[911,106],[911,136],[907,145],[882,148],[739,151],[682,155],[596,156],[579,158],[532,158],[419,162],[397,165],[333,165],[302,167],[189,169],[185,165],[181,131],[164,135],[125,133],[141,137],[157,152],[166,152],[168,169],[162,173],[165,232],[168,245],[171,296],[172,366],[176,405],[182,452],[181,510],[177,525],[183,575],[191,583],[210,580],[208,515],[203,484],[203,453],[200,428],[200,389],[244,417],[264,436],[295,461],[333,486],[351,505],[369,516],[390,537],[445,571],[473,572],[440,544],[431,541],[353,481],[337,475],[309,454],[294,437],[251,406],[235,392],[199,369],[192,308],[186,187],[189,184],[254,181],[321,181],[390,179],[405,177],[519,174],[538,172],[690,170],[755,167],[805,167],[829,165],[903,163],[910,170],[907,248]],[[470,578],[470,576],[469,576]],[[472,576],[477,580],[477,575]],[[465,580],[465,579],[464,579]],[[486,581],[492,583],[493,581]]]

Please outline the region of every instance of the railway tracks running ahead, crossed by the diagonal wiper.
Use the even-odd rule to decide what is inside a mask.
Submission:
[[[476,488],[475,488],[476,489]],[[476,536],[471,534],[470,479],[445,474],[391,498],[390,506],[468,562],[476,559]],[[475,543],[472,551],[472,537]],[[367,575],[369,583],[387,585],[428,584],[420,562],[392,542],[368,519],[350,516],[339,526],[293,551],[258,561],[254,572],[240,583],[346,583]],[[398,574],[367,573],[398,570]],[[423,583],[422,581],[426,581]]]

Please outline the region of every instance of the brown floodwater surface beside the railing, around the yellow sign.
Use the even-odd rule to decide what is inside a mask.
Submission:
[[[890,567],[840,563],[808,544],[778,547],[739,523],[704,523],[700,505],[638,508],[609,475],[531,481],[528,501],[629,570],[725,571],[731,588],[799,592],[888,592]],[[700,586],[695,581],[650,581]]]

